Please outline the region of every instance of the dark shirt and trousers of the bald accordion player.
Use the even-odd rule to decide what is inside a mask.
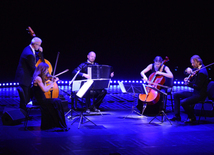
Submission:
[[[87,74],[87,68],[88,66],[93,66],[93,65],[99,65],[98,63],[94,63],[94,64],[91,64],[89,63],[88,61],[84,62],[84,63],[81,63],[77,68],[75,68],[73,70],[73,74],[75,75],[79,70],[79,74],[77,75],[77,79],[85,79],[83,77],[83,74]],[[107,91],[106,89],[96,89],[96,90],[88,90],[86,92],[86,94],[84,95],[84,97],[86,98],[86,108],[90,108],[91,106],[91,96],[94,96],[95,98],[95,101],[93,103],[93,105],[91,106],[92,109],[98,109],[100,104],[102,103],[104,97],[106,96],[107,94]]]

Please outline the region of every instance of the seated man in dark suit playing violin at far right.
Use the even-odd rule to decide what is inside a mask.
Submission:
[[[174,93],[175,116],[171,119],[172,121],[181,121],[180,105],[188,115],[188,119],[185,123],[193,123],[196,121],[196,117],[194,116],[194,105],[206,98],[208,85],[207,70],[203,68],[203,61],[198,55],[193,55],[190,62],[193,69],[188,67],[186,73],[193,74],[194,71],[197,73],[195,72],[196,74],[191,79],[191,76],[184,78],[184,82],[187,86],[192,87],[194,91],[189,92],[184,90]]]

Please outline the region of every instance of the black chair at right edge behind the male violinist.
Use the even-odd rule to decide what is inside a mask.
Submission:
[[[204,101],[199,103],[201,103],[201,112],[199,115],[198,123],[200,123],[202,113],[204,113],[204,117],[206,119],[206,112],[204,110],[205,103],[211,104],[212,108],[214,109],[214,105],[213,105],[214,104],[214,81],[211,81],[207,86],[207,98]]]

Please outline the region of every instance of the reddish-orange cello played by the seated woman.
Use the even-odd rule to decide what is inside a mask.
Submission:
[[[161,63],[160,68],[158,71],[163,71],[163,64],[169,61],[169,58],[166,57],[165,60]],[[156,73],[152,73],[149,76],[149,84],[146,88],[147,94],[139,94],[139,99],[143,102],[146,102],[148,105],[156,104],[160,99],[160,93],[158,90],[160,86],[165,83],[165,78],[163,75],[156,75]]]

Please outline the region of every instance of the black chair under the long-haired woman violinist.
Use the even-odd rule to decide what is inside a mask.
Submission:
[[[25,122],[24,122],[24,128],[25,130],[27,129],[27,123],[28,123],[28,120],[30,119],[30,116],[29,116],[29,113],[32,109],[40,109],[40,106],[39,105],[28,105],[26,103],[26,99],[25,99],[25,94],[24,94],[24,91],[22,89],[22,87],[18,86],[17,87],[17,91],[19,93],[19,98],[20,98],[20,104],[25,104],[26,105],[26,113],[24,114],[25,115]]]

